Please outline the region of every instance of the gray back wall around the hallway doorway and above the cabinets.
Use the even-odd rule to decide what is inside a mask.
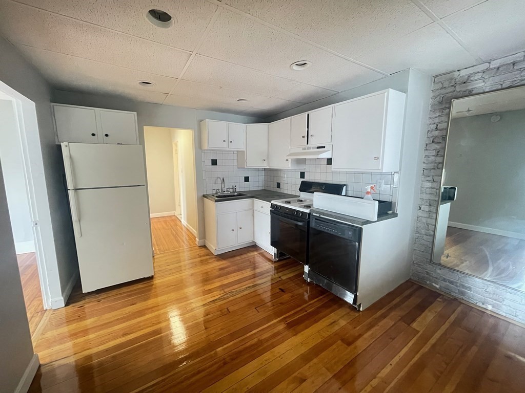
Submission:
[[[238,123],[258,123],[255,117],[237,116],[227,113],[210,112],[183,108],[180,106],[150,104],[131,101],[109,95],[83,94],[56,90],[53,102],[60,104],[94,106],[114,110],[137,112],[139,140],[144,144],[144,126],[193,129],[195,145],[195,169],[197,178],[197,214],[198,239],[204,239],[204,204],[203,204],[203,162],[201,150],[200,122],[204,119],[231,121]]]

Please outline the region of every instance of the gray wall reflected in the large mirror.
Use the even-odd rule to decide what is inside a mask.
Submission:
[[[448,220],[525,234],[525,111],[450,122],[444,185],[456,185]]]

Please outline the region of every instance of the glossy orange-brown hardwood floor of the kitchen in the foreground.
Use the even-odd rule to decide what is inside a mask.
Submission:
[[[525,329],[407,281],[363,312],[252,246],[50,311],[30,392],[522,391]]]

